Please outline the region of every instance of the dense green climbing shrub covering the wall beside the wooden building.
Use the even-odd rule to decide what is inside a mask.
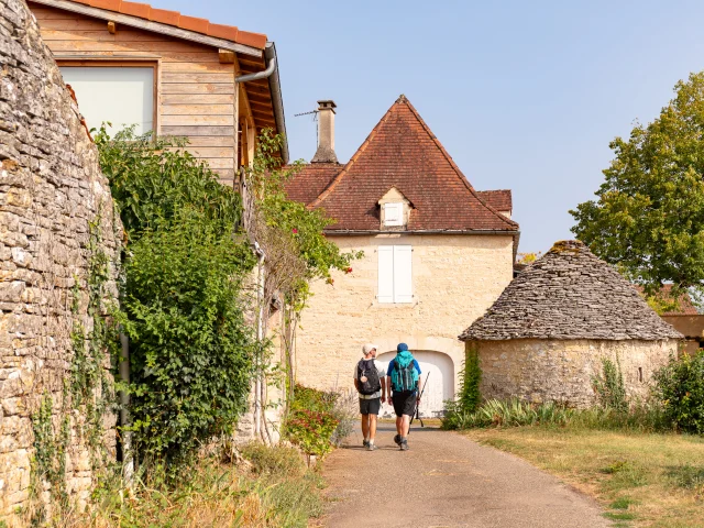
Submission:
[[[131,130],[96,142],[129,233],[121,308],[135,454],[178,462],[231,431],[258,353],[243,316],[255,261],[234,237],[241,199],[182,142]]]

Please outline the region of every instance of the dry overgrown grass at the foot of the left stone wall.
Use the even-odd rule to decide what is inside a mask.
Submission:
[[[67,513],[51,526],[305,528],[322,515],[323,481],[296,450],[257,444],[242,454],[251,465],[207,457],[170,485],[138,481],[130,493],[109,483],[90,514]]]

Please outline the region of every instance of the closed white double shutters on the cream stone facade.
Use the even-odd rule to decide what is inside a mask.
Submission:
[[[410,245],[378,248],[378,302],[413,302],[411,261]]]

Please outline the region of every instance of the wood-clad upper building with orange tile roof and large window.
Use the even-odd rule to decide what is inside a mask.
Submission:
[[[264,34],[121,0],[28,3],[89,128],[185,136],[228,185],[263,129],[286,132]],[[286,145],[280,155],[286,163]]]

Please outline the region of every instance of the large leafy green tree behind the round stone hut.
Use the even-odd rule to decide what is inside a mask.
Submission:
[[[572,232],[600,257],[654,295],[704,284],[704,72],[675,87],[675,97],[628,141],[616,138],[597,199],[570,213]]]

